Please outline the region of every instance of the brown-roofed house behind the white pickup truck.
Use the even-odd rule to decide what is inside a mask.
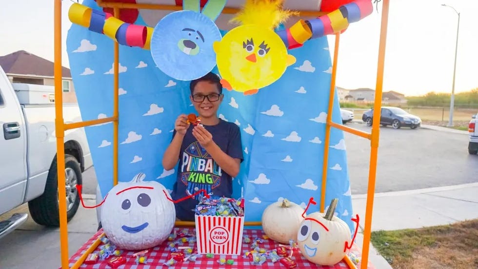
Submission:
[[[54,63],[20,50],[0,56],[0,66],[12,83],[55,85]],[[70,69],[62,67],[63,103],[77,103]]]

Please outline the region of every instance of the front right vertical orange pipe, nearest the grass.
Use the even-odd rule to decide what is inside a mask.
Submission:
[[[380,28],[380,43],[378,46],[377,84],[375,88],[374,116],[372,124],[372,138],[370,148],[370,168],[368,175],[367,206],[365,209],[365,226],[363,229],[363,246],[361,269],[367,268],[370,236],[372,229],[372,210],[374,207],[375,180],[377,176],[377,154],[379,140],[380,109],[382,104],[383,68],[385,64],[385,45],[387,41],[389,0],[383,0],[382,20]]]

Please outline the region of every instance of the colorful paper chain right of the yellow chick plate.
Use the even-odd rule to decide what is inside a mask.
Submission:
[[[335,34],[349,23],[360,21],[373,11],[372,0],[355,0],[326,15],[310,21],[299,20],[290,28],[278,31],[288,49],[301,47],[309,39]]]

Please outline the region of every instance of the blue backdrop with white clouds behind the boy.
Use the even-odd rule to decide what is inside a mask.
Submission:
[[[84,5],[100,9],[93,0]],[[137,24],[144,25],[141,17]],[[225,32],[222,32],[224,35]],[[83,120],[113,115],[113,41],[73,24],[67,51]],[[224,89],[219,117],[239,125],[244,162],[234,179],[234,197],[246,200],[246,221],[259,221],[265,207],[287,198],[305,208],[309,197],[319,210],[325,121],[331,81],[327,38],[307,41],[291,50],[297,62],[258,94]],[[189,82],[162,73],[151,52],[119,46],[119,181],[137,173],[171,189],[176,171],[161,166],[177,116],[194,113]],[[215,68],[213,72],[217,73]],[[339,101],[333,121],[340,123]],[[85,128],[104,196],[113,187],[113,125]],[[332,128],[325,202],[339,198],[337,215],[354,231],[352,200],[343,132]]]

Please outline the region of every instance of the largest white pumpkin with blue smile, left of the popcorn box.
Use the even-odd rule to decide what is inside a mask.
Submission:
[[[118,248],[155,247],[168,238],[174,227],[176,211],[163,192],[166,188],[144,178],[139,173],[131,182],[119,182],[108,192],[102,206],[104,233]]]

